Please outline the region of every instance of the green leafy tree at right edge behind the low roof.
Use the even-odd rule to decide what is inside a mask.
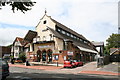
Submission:
[[[110,48],[119,48],[120,47],[120,34],[112,34],[106,40],[106,48],[110,50]]]

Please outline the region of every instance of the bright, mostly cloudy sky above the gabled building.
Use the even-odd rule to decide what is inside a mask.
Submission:
[[[25,14],[5,6],[0,10],[0,45],[24,38],[28,30],[35,30],[45,14],[82,34],[89,41],[105,42],[118,33],[119,0],[34,0],[35,6]]]

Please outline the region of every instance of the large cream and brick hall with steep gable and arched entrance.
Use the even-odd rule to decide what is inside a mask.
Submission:
[[[64,63],[64,60],[93,61],[98,53],[95,46],[81,34],[52,19],[46,13],[24,37],[30,61]]]

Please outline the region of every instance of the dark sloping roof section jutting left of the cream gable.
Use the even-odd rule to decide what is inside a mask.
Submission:
[[[36,31],[29,30],[26,36],[24,37],[24,40],[27,42],[32,42],[33,38],[37,36]]]

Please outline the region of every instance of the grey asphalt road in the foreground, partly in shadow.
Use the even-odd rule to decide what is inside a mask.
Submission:
[[[7,80],[119,80],[118,76],[58,73],[36,69],[10,67]]]

